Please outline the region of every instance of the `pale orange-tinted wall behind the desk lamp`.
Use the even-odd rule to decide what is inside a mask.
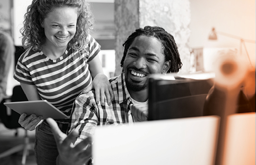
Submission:
[[[212,27],[216,31],[237,35],[244,39],[255,40],[255,0],[190,0],[191,36],[190,47],[236,48],[238,39],[218,35],[217,41],[209,41]],[[255,43],[246,42],[252,62],[255,63]],[[246,51],[243,48],[243,56]]]

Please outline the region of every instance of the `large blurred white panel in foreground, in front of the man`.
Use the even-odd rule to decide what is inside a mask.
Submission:
[[[94,165],[213,165],[218,122],[204,116],[97,127]]]

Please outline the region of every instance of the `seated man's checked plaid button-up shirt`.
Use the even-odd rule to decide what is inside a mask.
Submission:
[[[97,125],[118,125],[133,123],[131,120],[130,104],[132,99],[127,90],[124,73],[110,79],[110,86],[114,92],[114,99],[109,106],[105,99],[105,106],[95,101],[94,91],[81,93],[74,101],[71,113],[71,125],[68,133],[73,129],[79,131],[75,145],[94,133]]]

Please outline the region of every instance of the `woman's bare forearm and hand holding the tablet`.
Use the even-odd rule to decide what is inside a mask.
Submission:
[[[29,101],[40,100],[37,92],[37,87],[35,85],[28,85],[25,83],[20,83],[22,90],[27,96]],[[18,123],[26,130],[33,131],[36,126],[42,121],[42,116],[36,116],[34,114],[27,116],[26,114],[20,115]]]

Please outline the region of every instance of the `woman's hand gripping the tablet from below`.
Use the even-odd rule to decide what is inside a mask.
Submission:
[[[36,129],[37,125],[41,124],[43,121],[42,116],[36,116],[34,114],[27,116],[27,114],[20,115],[18,123],[28,131],[33,131]],[[40,123],[41,122],[41,123]]]

